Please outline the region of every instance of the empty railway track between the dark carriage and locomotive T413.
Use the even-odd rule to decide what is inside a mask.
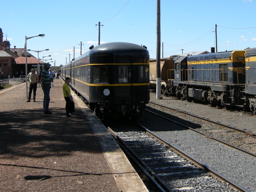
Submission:
[[[196,128],[192,128],[191,126],[189,126],[189,124],[186,122],[186,121],[180,121],[177,122],[175,120],[172,120],[170,119],[170,117],[168,118],[168,115],[164,115],[162,113],[162,115],[158,114],[159,111],[155,110],[155,114],[162,117],[162,118],[165,118],[167,119],[168,121],[171,121],[172,123],[176,123],[176,124],[179,124],[181,126],[184,126],[190,130],[193,130],[195,132],[198,132],[202,135],[204,135],[205,137],[207,138],[210,138],[210,139],[213,139],[213,140],[216,140],[220,143],[223,143],[224,145],[228,145],[229,147],[232,147],[232,148],[236,148],[237,150],[241,150],[243,151],[244,153],[247,153],[249,155],[252,155],[254,157],[256,157],[256,149],[255,148],[252,148],[252,144],[256,144],[256,134],[254,133],[251,133],[251,132],[247,132],[247,131],[244,131],[244,130],[241,130],[241,129],[238,129],[238,128],[235,128],[235,127],[231,127],[231,126],[228,126],[228,125],[225,125],[225,124],[221,124],[219,122],[215,122],[215,121],[212,121],[212,120],[209,120],[207,118],[204,118],[204,117],[199,117],[199,116],[196,116],[196,115],[192,115],[192,114],[189,114],[189,113],[186,113],[184,111],[180,111],[180,110],[177,110],[177,109],[173,109],[173,108],[169,108],[169,107],[166,107],[166,106],[163,106],[163,105],[159,105],[159,104],[156,104],[156,103],[153,103],[153,102],[149,102],[150,104],[152,105],[156,105],[156,106],[159,106],[161,108],[166,108],[168,110],[172,110],[174,111],[175,113],[179,113],[179,114],[184,114],[186,116],[191,116],[193,118],[196,118],[196,119],[200,119],[202,121],[205,121],[205,122],[209,122],[210,124],[215,124],[215,125],[218,125],[218,126],[211,126],[211,131],[209,131],[209,129],[198,129],[198,126]],[[147,110],[148,112],[150,113],[154,113],[152,111],[152,108],[150,108],[150,110]],[[190,119],[192,121],[192,119]],[[196,124],[198,125],[198,121],[196,121]],[[203,126],[201,126],[203,127]],[[205,124],[204,124],[204,127]],[[213,131],[213,127],[214,128],[214,131]],[[200,131],[199,131],[200,130]],[[214,134],[211,134],[212,132],[214,132]],[[231,135],[231,136],[228,136],[228,135]],[[234,137],[234,135],[236,135],[236,137]],[[229,138],[229,139],[227,139]],[[230,139],[231,138],[231,139]],[[237,138],[239,138],[239,142],[237,142]],[[245,142],[245,140],[247,142]],[[240,143],[243,143],[243,145],[239,145]],[[248,143],[248,144],[246,144]]]

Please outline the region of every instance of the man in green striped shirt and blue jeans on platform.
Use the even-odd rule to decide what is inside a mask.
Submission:
[[[52,114],[52,111],[49,111],[51,82],[50,82],[50,75],[48,70],[50,66],[51,65],[49,63],[45,63],[44,70],[41,72],[42,89],[44,92],[44,100],[43,100],[44,114]]]

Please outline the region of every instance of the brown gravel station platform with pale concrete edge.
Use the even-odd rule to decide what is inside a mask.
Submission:
[[[53,82],[52,115],[43,114],[41,87],[36,102],[26,102],[26,83],[0,90],[0,191],[148,191],[73,92],[76,112],[66,117],[63,83]]]

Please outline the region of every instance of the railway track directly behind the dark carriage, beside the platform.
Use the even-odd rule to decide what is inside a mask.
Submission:
[[[141,125],[109,126],[155,191],[248,191]]]

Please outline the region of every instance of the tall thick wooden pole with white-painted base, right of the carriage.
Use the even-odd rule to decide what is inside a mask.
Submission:
[[[161,97],[161,28],[160,28],[160,0],[156,0],[156,99]]]

